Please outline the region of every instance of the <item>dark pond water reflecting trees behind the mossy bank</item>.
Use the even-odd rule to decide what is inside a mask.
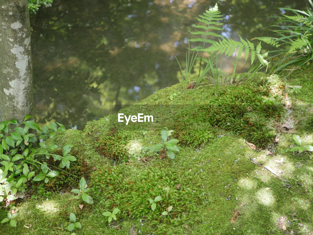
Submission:
[[[224,35],[252,39],[280,14],[306,1],[224,0]],[[54,0],[31,14],[34,102],[37,121],[66,128],[109,114],[110,105],[133,104],[180,81],[195,17],[215,1]],[[242,63],[242,66],[244,63]],[[232,70],[233,61],[223,61]],[[238,72],[245,71],[238,66]]]

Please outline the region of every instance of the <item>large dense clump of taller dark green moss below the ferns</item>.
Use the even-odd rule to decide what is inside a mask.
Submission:
[[[177,139],[187,146],[197,146],[213,139],[218,128],[224,128],[266,146],[275,136],[274,122],[279,122],[284,113],[281,97],[260,82],[228,86],[218,97],[178,113]]]

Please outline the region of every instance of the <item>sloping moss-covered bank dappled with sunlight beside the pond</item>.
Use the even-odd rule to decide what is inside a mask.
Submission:
[[[218,97],[210,86],[184,91],[177,84],[123,109],[125,115],[152,114],[153,123],[126,126],[111,115],[83,132],[58,133],[54,143],[74,144],[73,151],[97,167],[87,181],[94,204],[81,210],[70,189],[51,194],[39,186],[37,199],[12,208],[17,227],[0,225],[1,234],[70,234],[71,212],[82,225],[76,234],[312,234],[312,160],[308,152],[289,151],[293,133],[303,145],[313,143],[312,69],[294,71],[285,84],[262,74],[255,81],[227,87]],[[299,93],[287,88],[288,112],[281,112],[285,85],[303,87]],[[147,150],[160,143],[163,127],[181,141],[173,160]],[[274,155],[251,149],[244,139]],[[156,196],[162,200],[152,211],[149,199]],[[117,221],[108,223],[102,213],[115,207]]]

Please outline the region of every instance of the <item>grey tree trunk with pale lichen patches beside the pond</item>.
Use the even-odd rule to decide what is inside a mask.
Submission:
[[[27,0],[0,1],[1,121],[34,115],[32,70]]]

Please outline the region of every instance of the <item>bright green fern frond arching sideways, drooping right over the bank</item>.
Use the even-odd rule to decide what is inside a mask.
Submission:
[[[248,60],[249,53],[251,53],[251,64],[253,64],[255,57],[257,57],[262,65],[269,65],[269,62],[264,59],[264,57],[267,56],[267,53],[260,54],[261,43],[259,43],[257,47],[254,48],[254,44],[251,43],[249,40],[245,41],[240,37],[240,41],[241,42],[237,42],[230,38],[223,38],[222,40],[218,39],[218,42],[214,42],[210,47],[202,50],[205,52],[217,52],[219,55],[224,53],[226,57],[229,57],[238,48],[238,56],[240,56],[242,51],[244,50],[245,60]]]

